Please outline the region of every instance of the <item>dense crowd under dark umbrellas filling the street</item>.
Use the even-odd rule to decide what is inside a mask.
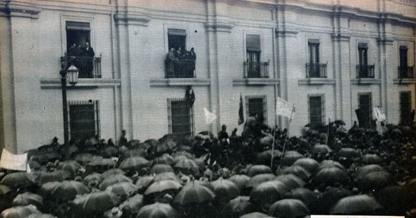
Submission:
[[[208,150],[195,155],[193,147],[212,140],[42,146],[29,152],[31,172],[1,172],[0,218],[416,217],[416,128],[390,126],[383,136],[355,129],[330,140],[306,129],[286,143],[260,140],[248,160],[241,149],[251,145],[231,138],[228,161],[209,165]]]

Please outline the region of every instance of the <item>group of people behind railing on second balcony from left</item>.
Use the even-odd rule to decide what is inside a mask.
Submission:
[[[193,78],[195,71],[196,53],[194,48],[186,51],[182,47],[171,48],[166,55],[166,76],[172,78]]]

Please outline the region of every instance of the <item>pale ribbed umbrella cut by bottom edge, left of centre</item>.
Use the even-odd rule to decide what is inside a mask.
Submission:
[[[139,210],[137,218],[176,218],[180,217],[177,212],[167,203],[153,203],[146,205]]]

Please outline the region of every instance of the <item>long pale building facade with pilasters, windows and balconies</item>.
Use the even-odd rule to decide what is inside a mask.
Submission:
[[[240,99],[245,118],[280,127],[277,97],[295,104],[293,135],[329,119],[351,127],[356,109],[370,126],[372,107],[407,123],[416,108],[415,1],[10,0],[0,24],[0,146],[11,152],[62,143],[61,60],[79,70],[71,138],[232,131]]]

